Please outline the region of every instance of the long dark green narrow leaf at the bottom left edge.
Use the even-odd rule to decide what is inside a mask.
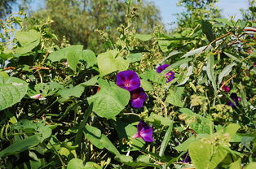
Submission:
[[[40,143],[40,136],[33,135],[31,137],[26,137],[21,141],[15,141],[12,145],[8,146],[5,150],[0,151],[0,157],[11,155],[11,154],[19,154],[24,150],[28,150],[30,147],[38,145]]]

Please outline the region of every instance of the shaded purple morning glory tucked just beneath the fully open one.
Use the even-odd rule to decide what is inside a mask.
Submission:
[[[143,107],[143,102],[148,98],[143,88],[137,88],[130,91],[130,106],[134,108]]]

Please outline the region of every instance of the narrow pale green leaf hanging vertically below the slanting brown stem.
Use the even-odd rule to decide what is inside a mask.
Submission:
[[[214,55],[209,54],[207,57],[206,73],[209,80],[212,82],[213,88],[217,91],[216,77],[214,76]]]

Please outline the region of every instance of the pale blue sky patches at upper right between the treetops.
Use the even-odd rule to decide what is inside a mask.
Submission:
[[[166,24],[167,28],[170,28],[168,24],[175,21],[175,13],[180,13],[183,11],[183,7],[176,6],[179,0],[153,0],[156,6],[159,7],[161,11],[161,18]],[[235,19],[241,19],[241,12],[239,9],[247,9],[247,0],[219,0],[216,3],[219,9],[222,10],[222,15],[225,18],[229,18],[231,15],[235,16]]]

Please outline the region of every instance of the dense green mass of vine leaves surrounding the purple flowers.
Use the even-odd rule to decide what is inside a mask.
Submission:
[[[51,22],[28,28],[20,17],[2,23],[2,168],[255,168],[255,36],[245,31],[255,23],[201,20],[171,35],[128,23],[112,50],[95,54],[55,45]],[[143,108],[115,83],[126,70],[148,95]],[[234,107],[230,93],[241,97]],[[132,138],[140,120],[153,127],[150,144]]]

